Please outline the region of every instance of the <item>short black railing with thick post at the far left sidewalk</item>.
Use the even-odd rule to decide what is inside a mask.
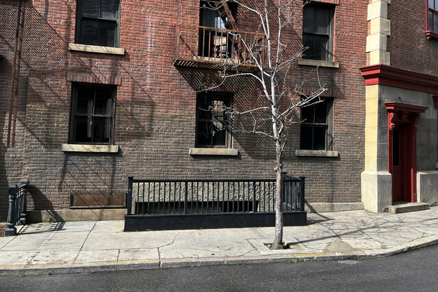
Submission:
[[[10,185],[8,188],[9,210],[5,236],[16,235],[15,226],[18,224],[25,225],[27,223],[27,187],[29,187],[29,181],[23,179],[21,185]]]

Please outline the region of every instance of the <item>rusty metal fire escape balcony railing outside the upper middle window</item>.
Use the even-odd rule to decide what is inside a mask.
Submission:
[[[247,46],[244,43],[248,44]],[[264,64],[264,38],[250,31],[233,31],[200,25],[178,25],[175,66],[257,72],[254,57]],[[253,48],[253,54],[247,47]]]

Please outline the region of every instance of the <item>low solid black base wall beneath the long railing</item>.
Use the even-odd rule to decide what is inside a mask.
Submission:
[[[307,212],[283,213],[284,226],[305,226]],[[275,226],[274,213],[125,215],[125,231]]]

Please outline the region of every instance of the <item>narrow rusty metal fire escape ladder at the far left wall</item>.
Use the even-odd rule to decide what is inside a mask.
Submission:
[[[11,148],[15,145],[15,132],[16,132],[16,115],[18,107],[18,90],[20,88],[20,66],[21,66],[21,53],[23,51],[23,35],[25,27],[25,12],[27,0],[19,0],[16,31],[15,31],[15,43],[14,43],[14,60],[12,62],[11,73],[11,90],[9,100],[9,117],[8,117],[8,137],[7,147]]]

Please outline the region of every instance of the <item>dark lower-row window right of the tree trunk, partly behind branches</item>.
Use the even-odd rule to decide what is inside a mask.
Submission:
[[[330,98],[301,107],[300,149],[331,150]]]

